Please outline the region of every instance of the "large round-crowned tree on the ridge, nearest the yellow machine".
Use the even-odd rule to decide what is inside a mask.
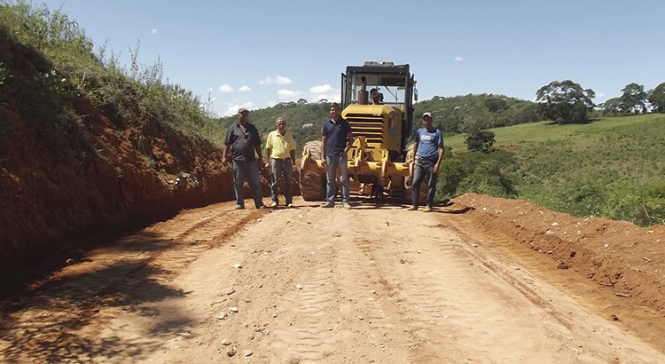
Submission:
[[[588,115],[594,107],[591,99],[595,97],[593,90],[584,90],[570,80],[552,81],[536,92],[543,117],[559,124],[589,122]]]

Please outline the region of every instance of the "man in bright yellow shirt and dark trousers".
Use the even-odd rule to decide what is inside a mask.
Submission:
[[[272,203],[270,203],[270,207],[277,207],[279,204],[278,181],[279,177],[284,175],[286,207],[292,208],[291,178],[293,178],[293,172],[295,171],[295,140],[291,132],[286,131],[286,120],[283,117],[278,117],[275,125],[277,125],[277,130],[270,131],[265,142],[265,154],[268,157],[265,167],[270,167],[272,172],[270,181]]]

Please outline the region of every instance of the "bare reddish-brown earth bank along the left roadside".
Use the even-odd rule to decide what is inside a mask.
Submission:
[[[83,91],[60,98],[51,60],[4,27],[0,44],[3,273],[85,249],[91,234],[232,198],[219,146],[111,104],[101,110]]]

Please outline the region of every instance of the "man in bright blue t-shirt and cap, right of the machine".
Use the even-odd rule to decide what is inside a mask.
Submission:
[[[411,207],[408,210],[418,210],[420,183],[427,176],[427,198],[423,211],[429,212],[434,206],[434,193],[438,180],[439,165],[443,159],[443,135],[439,129],[432,126],[432,113],[423,114],[424,128],[416,131],[413,137],[413,153],[417,158],[413,167],[413,187],[411,189]],[[408,161],[413,162],[413,161]]]

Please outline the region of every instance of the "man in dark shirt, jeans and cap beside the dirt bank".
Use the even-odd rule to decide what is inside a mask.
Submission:
[[[256,209],[263,209],[263,193],[259,179],[259,165],[263,163],[261,155],[261,136],[254,124],[249,123],[249,110],[240,107],[239,122],[233,123],[226,131],[222,162],[226,162],[226,154],[231,148],[233,169],[233,189],[236,193],[236,210],[245,209],[245,180],[249,183]],[[256,155],[259,158],[256,158]]]

